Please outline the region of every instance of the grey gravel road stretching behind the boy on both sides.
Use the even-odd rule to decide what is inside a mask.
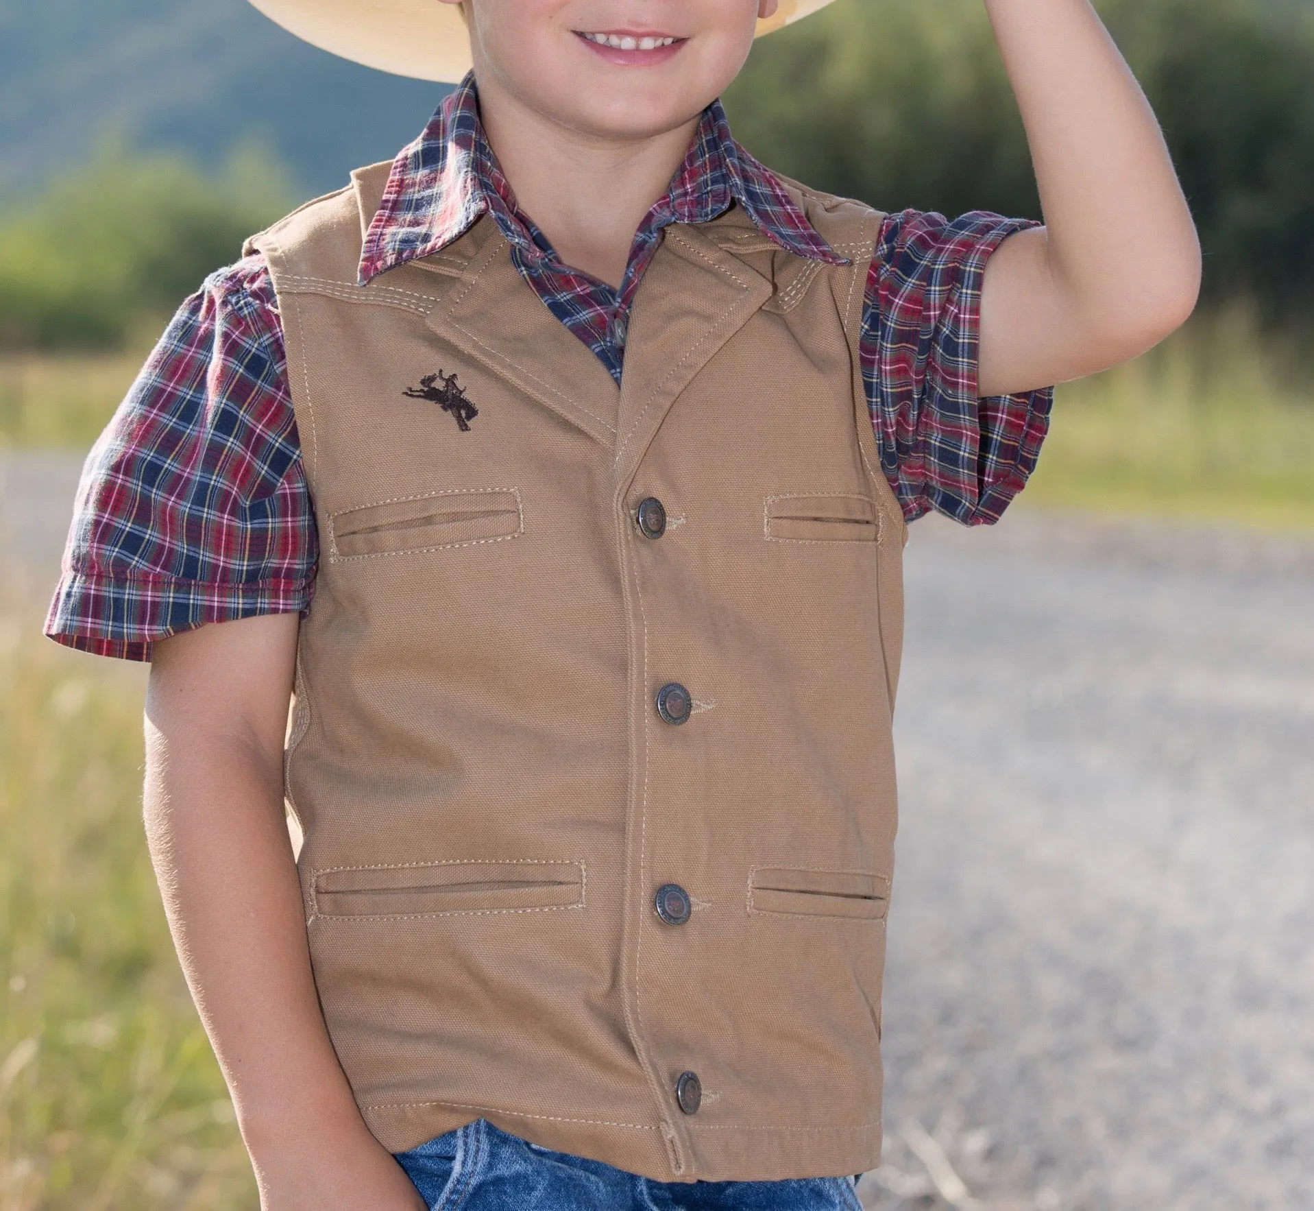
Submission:
[[[0,456],[42,593],[76,472]],[[867,1206],[1314,1208],[1314,543],[912,535]]]

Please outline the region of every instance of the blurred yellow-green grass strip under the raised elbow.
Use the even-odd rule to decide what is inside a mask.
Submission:
[[[1200,322],[1059,388],[1021,500],[1314,531],[1314,391],[1250,331],[1235,317]]]

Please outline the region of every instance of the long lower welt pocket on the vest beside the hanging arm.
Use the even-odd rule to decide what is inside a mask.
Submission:
[[[466,916],[582,909],[583,863],[537,859],[317,870],[317,916]]]

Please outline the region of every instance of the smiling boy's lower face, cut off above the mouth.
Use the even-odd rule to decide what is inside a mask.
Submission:
[[[632,139],[674,130],[717,97],[744,66],[758,17],[777,7],[466,0],[465,13],[481,87],[491,84],[581,134]]]

